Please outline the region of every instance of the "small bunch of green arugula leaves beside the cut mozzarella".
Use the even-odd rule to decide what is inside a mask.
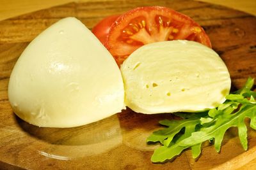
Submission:
[[[178,113],[176,115],[185,119],[160,121],[166,128],[153,132],[147,139],[163,145],[154,151],[152,162],[173,159],[187,148],[191,148],[195,159],[201,153],[202,143],[207,140],[213,140],[216,151],[220,152],[223,136],[230,127],[238,128],[241,145],[247,150],[247,127],[244,118],[250,118],[250,127],[256,130],[255,92],[251,90],[253,84],[254,79],[248,78],[242,89],[229,94],[225,103],[205,112],[207,114],[188,113],[189,116],[186,116],[186,113]]]

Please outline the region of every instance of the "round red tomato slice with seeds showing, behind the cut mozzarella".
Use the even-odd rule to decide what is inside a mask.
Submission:
[[[188,16],[161,6],[128,11],[111,25],[105,46],[118,66],[134,50],[156,41],[188,39],[211,48],[211,41],[199,24]]]

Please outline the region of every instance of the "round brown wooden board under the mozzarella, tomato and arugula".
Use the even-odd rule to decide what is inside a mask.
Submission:
[[[70,3],[0,22],[0,169],[236,169],[256,159],[256,132],[248,131],[244,152],[237,129],[225,134],[221,153],[205,145],[194,160],[191,151],[172,162],[152,164],[157,146],[147,136],[170,114],[143,115],[127,109],[93,124],[40,128],[16,117],[8,101],[8,80],[20,53],[46,27],[74,16],[92,28],[100,19],[137,6],[167,6],[189,15],[209,34],[212,47],[227,64],[232,89],[248,76],[256,78],[256,18],[246,13],[196,1],[104,1]],[[256,165],[251,165],[252,169]]]

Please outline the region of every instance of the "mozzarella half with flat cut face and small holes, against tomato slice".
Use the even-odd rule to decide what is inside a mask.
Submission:
[[[203,111],[225,101],[230,75],[211,48],[194,41],[141,46],[121,66],[125,104],[139,113]]]

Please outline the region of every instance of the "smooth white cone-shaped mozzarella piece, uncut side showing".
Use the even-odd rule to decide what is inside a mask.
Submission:
[[[124,108],[115,60],[73,17],[31,41],[13,68],[8,96],[18,117],[40,127],[76,127]]]

